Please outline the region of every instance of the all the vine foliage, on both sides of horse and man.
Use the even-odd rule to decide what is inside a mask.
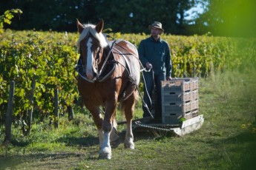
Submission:
[[[137,47],[148,35],[111,33]],[[22,118],[32,106],[41,117],[52,115],[54,88],[59,112],[78,96],[74,67],[79,53],[76,33],[6,30],[0,42],[0,115],[7,109],[9,82],[16,81],[14,114]],[[171,47],[172,77],[208,77],[214,72],[243,70],[256,65],[256,40],[207,35],[162,35]],[[30,102],[32,84],[34,102]],[[142,86],[140,86],[142,88]]]

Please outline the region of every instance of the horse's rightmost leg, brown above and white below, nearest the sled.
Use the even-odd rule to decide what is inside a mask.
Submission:
[[[125,148],[134,149],[134,135],[131,129],[131,121],[134,117],[134,107],[136,101],[137,92],[134,93],[125,101],[122,102],[122,110],[125,112],[126,118],[126,134],[125,134]]]

